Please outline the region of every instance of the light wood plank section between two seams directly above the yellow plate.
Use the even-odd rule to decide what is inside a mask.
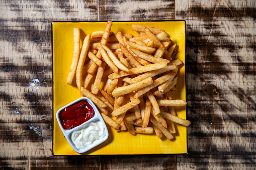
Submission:
[[[99,21],[175,19],[175,1],[99,1]]]

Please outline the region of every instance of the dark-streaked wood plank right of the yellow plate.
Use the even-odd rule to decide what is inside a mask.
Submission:
[[[189,155],[178,168],[255,166],[255,2],[179,1],[187,20]]]

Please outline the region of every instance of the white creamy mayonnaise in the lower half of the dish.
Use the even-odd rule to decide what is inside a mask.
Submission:
[[[100,121],[90,122],[71,134],[71,141],[77,149],[84,149],[100,142],[105,137],[105,129]]]

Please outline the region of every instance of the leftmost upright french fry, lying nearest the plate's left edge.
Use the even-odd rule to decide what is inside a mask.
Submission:
[[[74,40],[73,58],[72,58],[72,63],[67,76],[67,84],[69,85],[71,85],[73,82],[76,67],[79,60],[79,53],[80,53],[80,29],[77,27],[74,27],[74,30],[73,30],[73,40]]]

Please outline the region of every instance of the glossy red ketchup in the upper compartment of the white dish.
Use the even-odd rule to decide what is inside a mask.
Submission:
[[[80,100],[67,106],[59,113],[59,118],[64,129],[72,129],[90,120],[94,116],[93,107],[86,101]]]

